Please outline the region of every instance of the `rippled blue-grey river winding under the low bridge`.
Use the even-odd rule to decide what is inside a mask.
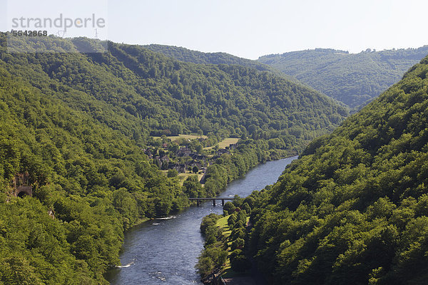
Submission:
[[[258,165],[245,177],[230,183],[219,197],[247,197],[254,190],[262,190],[275,183],[285,166],[296,158]],[[156,219],[133,227],[125,233],[120,256],[122,267],[108,271],[106,279],[113,285],[202,284],[195,270],[204,243],[200,222],[210,213],[222,212],[221,202],[213,207],[209,201],[185,209],[173,219]]]

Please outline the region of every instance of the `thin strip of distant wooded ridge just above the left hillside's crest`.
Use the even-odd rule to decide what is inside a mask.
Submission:
[[[198,64],[228,64],[238,66],[248,66],[259,71],[272,71],[270,66],[267,66],[258,61],[252,61],[247,58],[240,58],[238,56],[232,56],[229,53],[203,53],[202,51],[193,51],[188,48],[182,48],[178,46],[164,46],[158,44],[151,44],[144,46],[151,51],[163,53],[165,56],[175,58],[178,61],[185,61]]]

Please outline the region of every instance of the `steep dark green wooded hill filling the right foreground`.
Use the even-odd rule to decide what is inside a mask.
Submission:
[[[248,247],[271,284],[425,284],[428,57],[263,192]]]

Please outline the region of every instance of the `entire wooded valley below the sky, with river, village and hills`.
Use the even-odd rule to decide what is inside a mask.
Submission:
[[[427,46],[8,36],[0,284],[424,284]]]

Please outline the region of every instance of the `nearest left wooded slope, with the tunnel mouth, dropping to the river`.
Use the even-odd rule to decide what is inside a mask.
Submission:
[[[136,142],[5,67],[1,61],[0,283],[103,284],[103,272],[119,264],[123,230],[185,198]],[[26,173],[33,197],[6,196]]]

